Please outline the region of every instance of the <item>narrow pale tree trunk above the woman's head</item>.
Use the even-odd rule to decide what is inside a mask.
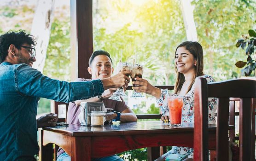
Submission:
[[[187,40],[198,41],[197,29],[193,16],[193,7],[191,0],[180,0],[181,11],[183,15],[184,25],[186,29]]]

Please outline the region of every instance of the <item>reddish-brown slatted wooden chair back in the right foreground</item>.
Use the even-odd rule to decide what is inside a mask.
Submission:
[[[229,101],[236,98],[239,99],[239,160],[255,161],[256,81],[237,79],[207,84],[205,78],[195,81],[194,160],[208,161],[208,98],[212,97],[218,98],[216,160],[228,161]]]

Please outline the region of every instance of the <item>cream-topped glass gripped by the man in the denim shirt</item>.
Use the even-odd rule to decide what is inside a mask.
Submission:
[[[117,63],[117,66],[116,66],[116,71],[117,72],[131,71],[131,70],[132,70],[132,65],[131,64],[122,63],[122,62]],[[129,75],[127,75],[127,76],[129,76]],[[120,98],[120,96],[126,96],[126,94],[123,92],[122,86],[117,88],[116,92],[113,93],[113,95],[109,99],[113,99],[113,100],[122,102],[122,99]]]

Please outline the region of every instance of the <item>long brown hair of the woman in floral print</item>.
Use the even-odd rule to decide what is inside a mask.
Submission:
[[[175,54],[179,47],[185,47],[186,50],[189,51],[193,55],[194,59],[197,61],[197,65],[195,66],[196,74],[194,75],[193,81],[187,90],[187,92],[189,92],[191,90],[192,85],[195,82],[196,77],[204,75],[204,72],[203,72],[203,69],[204,69],[203,47],[196,41],[184,41],[179,46],[177,46],[177,48],[175,50]],[[175,65],[175,72],[177,75],[177,79],[176,79],[176,83],[175,83],[175,87],[174,87],[174,93],[177,94],[178,92],[180,92],[180,90],[183,86],[183,83],[185,82],[185,77],[182,73],[178,72],[176,65]]]

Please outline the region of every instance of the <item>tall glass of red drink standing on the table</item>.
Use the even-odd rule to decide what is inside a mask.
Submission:
[[[171,126],[179,127],[181,125],[182,107],[183,96],[169,96],[168,108]]]

